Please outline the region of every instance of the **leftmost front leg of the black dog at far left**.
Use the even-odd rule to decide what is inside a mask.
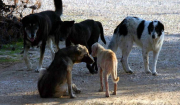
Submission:
[[[26,66],[28,68],[28,70],[32,70],[31,68],[31,63],[29,62],[29,58],[28,58],[28,51],[29,51],[29,46],[25,45],[24,46],[24,54],[23,54],[23,58],[25,60]]]

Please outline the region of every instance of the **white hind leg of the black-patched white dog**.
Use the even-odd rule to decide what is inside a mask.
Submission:
[[[131,68],[128,65],[128,57],[129,57],[129,53],[131,52],[132,46],[133,46],[133,41],[128,41],[123,43],[124,45],[122,45],[122,48],[120,47],[121,51],[122,51],[122,59],[121,59],[121,63],[123,66],[123,69],[125,70],[126,73],[133,73],[133,71],[131,70]]]

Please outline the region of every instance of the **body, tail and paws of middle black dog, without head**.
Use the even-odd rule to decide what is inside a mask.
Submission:
[[[101,36],[101,40],[106,44],[102,24],[98,21],[85,20],[76,23],[69,31],[70,33],[66,39],[66,46],[70,46],[71,42],[74,44],[82,44],[85,45],[88,48],[89,53],[91,53],[91,46],[98,42],[99,36]],[[96,60],[97,58],[94,57],[95,62],[92,67],[90,64],[86,65],[92,74],[97,73],[98,70]]]

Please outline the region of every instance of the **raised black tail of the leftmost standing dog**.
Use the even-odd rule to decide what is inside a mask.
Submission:
[[[54,0],[55,12],[61,16],[63,12],[62,0]]]

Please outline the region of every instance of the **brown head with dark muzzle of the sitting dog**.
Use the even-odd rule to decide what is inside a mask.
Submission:
[[[76,61],[75,63],[86,62],[91,64],[94,62],[93,58],[89,55],[88,49],[83,45],[76,45]]]

